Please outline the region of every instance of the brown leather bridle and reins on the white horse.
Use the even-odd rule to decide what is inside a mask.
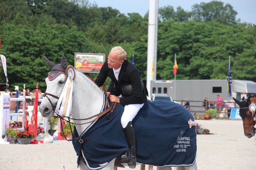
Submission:
[[[62,70],[58,70],[58,71],[61,71],[61,72],[65,73],[65,72],[62,71]],[[47,95],[52,96],[52,97],[54,97],[54,98],[56,98],[56,99],[58,99],[58,100],[59,100],[59,97],[56,96],[56,95],[54,95],[54,94],[47,93],[47,92],[44,93],[44,95],[43,95],[43,97],[46,97],[46,98],[49,100],[49,102],[50,102],[51,105],[52,105],[53,111],[55,111],[56,105],[53,104],[53,102],[51,101],[51,99],[50,99]],[[74,118],[71,118],[71,117],[68,117],[68,116],[64,116],[64,117],[66,117],[66,118],[68,119],[68,120],[66,120],[66,119],[64,119],[64,117],[62,117],[62,116],[60,116],[60,115],[53,116],[54,118],[60,118],[61,127],[62,127],[62,133],[63,133],[64,138],[65,138],[67,141],[74,141],[74,142],[83,143],[83,142],[86,142],[86,141],[88,140],[87,138],[84,138],[84,139],[79,139],[79,137],[78,137],[78,138],[73,138],[73,132],[72,132],[71,124],[74,124],[74,125],[84,125],[84,124],[88,124],[88,123],[94,122],[95,120],[97,120],[98,118],[100,118],[101,116],[103,116],[103,115],[106,114],[106,113],[108,113],[108,114],[107,114],[107,118],[108,118],[108,119],[111,119],[111,118],[112,118],[112,112],[113,112],[113,111],[115,110],[115,108],[116,108],[116,102],[112,102],[112,104],[109,105],[109,101],[108,101],[109,95],[111,95],[111,94],[109,93],[109,94],[107,94],[107,96],[106,96],[106,102],[105,102],[104,110],[103,110],[102,112],[96,114],[96,115],[91,116],[91,117],[88,117],[88,118],[85,118],[85,119],[74,119]],[[108,108],[107,108],[107,107],[108,107]],[[94,118],[94,119],[93,119],[93,120],[90,120],[90,119],[92,119],[92,118]],[[70,122],[71,120],[79,120],[79,121],[90,120],[90,121],[85,122],[85,123],[80,123],[80,124],[78,124],[78,123]],[[72,140],[68,140],[68,139],[65,137],[64,132],[63,132],[62,121],[66,121],[66,122],[69,123],[70,131],[71,131],[71,134],[72,134]]]

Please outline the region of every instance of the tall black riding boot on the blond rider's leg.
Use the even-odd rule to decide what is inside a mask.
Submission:
[[[129,122],[124,128],[124,134],[128,142],[129,149],[128,155],[122,155],[119,159],[121,163],[127,163],[130,168],[135,168],[136,166],[136,147],[135,147],[135,132],[132,126],[132,122]]]

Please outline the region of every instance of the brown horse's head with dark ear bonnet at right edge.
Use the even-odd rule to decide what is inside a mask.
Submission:
[[[255,103],[256,96],[247,98],[246,100],[239,101],[233,98],[235,102],[239,105],[239,115],[243,120],[244,135],[251,138],[255,135]]]

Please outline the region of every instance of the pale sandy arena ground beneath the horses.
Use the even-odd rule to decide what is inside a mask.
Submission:
[[[244,136],[242,120],[196,120],[213,135],[197,135],[198,170],[255,170],[255,137]],[[146,169],[147,169],[146,165]],[[72,143],[0,144],[0,170],[77,170]],[[118,168],[128,170],[127,168]],[[140,165],[136,166],[140,170]],[[154,170],[156,168],[154,167]]]

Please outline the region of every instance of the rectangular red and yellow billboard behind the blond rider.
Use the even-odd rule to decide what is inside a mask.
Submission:
[[[75,53],[75,70],[84,73],[99,73],[105,54]]]

